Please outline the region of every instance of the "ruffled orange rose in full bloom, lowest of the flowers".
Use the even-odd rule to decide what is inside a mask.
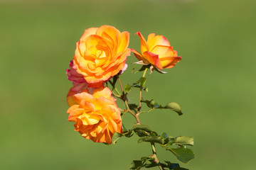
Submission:
[[[68,108],[68,120],[75,123],[75,131],[93,142],[111,144],[114,132],[122,132],[122,120],[112,92],[107,87],[95,89],[92,94],[75,94],[76,103]]]

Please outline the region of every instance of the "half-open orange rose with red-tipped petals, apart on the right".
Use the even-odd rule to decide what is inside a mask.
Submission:
[[[139,35],[141,39],[142,54],[132,49],[135,57],[140,60],[140,62],[137,62],[138,64],[152,64],[162,70],[163,68],[170,69],[181,61],[181,57],[178,57],[178,53],[173,50],[173,47],[163,35],[151,33],[147,41],[141,33],[137,32],[135,35]]]

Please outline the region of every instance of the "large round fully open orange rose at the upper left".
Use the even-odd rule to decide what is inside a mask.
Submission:
[[[127,31],[120,33],[112,26],[89,28],[76,43],[73,68],[87,83],[103,84],[124,69],[131,53],[128,45]]]

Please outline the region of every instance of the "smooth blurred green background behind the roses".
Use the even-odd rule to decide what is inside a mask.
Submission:
[[[0,1],[0,169],[129,169],[151,154],[148,143],[122,138],[105,146],[80,137],[68,122],[65,69],[83,31],[102,25],[166,36],[182,60],[146,82],[158,103],[178,102],[184,115],[140,116],[156,132],[195,138],[193,170],[255,169],[256,1]],[[136,62],[134,55],[127,63]],[[132,65],[123,83],[136,81]],[[129,96],[138,100],[137,91]],[[122,107],[122,103],[119,102]],[[124,123],[135,123],[126,115]],[[157,147],[159,159],[178,162]],[[157,168],[156,168],[157,169]]]

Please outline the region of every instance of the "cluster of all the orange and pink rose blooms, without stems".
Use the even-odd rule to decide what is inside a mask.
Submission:
[[[75,131],[93,142],[112,143],[114,132],[122,133],[119,108],[105,83],[127,68],[131,51],[137,64],[156,69],[171,68],[181,60],[163,35],[151,33],[146,41],[141,33],[141,53],[128,48],[129,33],[112,26],[88,28],[76,42],[75,55],[67,69],[73,87],[67,95],[68,120]]]

